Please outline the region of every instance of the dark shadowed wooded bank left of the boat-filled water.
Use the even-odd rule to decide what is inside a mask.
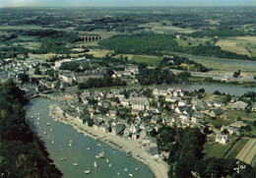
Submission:
[[[0,175],[3,178],[58,178],[43,144],[25,120],[23,91],[9,80],[0,86]]]

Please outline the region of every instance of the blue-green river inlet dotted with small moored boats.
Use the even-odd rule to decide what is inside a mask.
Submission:
[[[127,157],[125,152],[106,147],[106,144],[78,133],[71,126],[54,121],[48,116],[48,105],[53,102],[42,97],[33,98],[25,107],[26,118],[30,121],[32,130],[45,143],[45,148],[56,167],[64,174],[64,178],[115,178],[129,177],[129,174],[140,178],[154,177],[148,166],[132,157]],[[39,120],[34,113],[40,113]],[[47,123],[50,125],[48,126]],[[46,134],[44,135],[43,132]],[[55,143],[52,144],[52,141]],[[97,147],[98,144],[101,147]],[[96,154],[101,151],[105,152],[105,158],[96,159]],[[67,159],[62,161],[62,157]],[[109,159],[108,163],[106,158]],[[95,161],[97,168],[94,167]],[[74,166],[73,163],[78,163],[78,166]],[[125,168],[128,170],[125,171]],[[87,169],[92,171],[91,174],[84,173]]]

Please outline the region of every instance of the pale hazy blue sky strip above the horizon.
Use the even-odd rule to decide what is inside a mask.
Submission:
[[[0,0],[0,7],[23,6],[256,6],[256,0]]]

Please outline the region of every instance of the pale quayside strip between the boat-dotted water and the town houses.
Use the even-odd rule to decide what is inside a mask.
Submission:
[[[140,140],[130,140],[124,139],[122,137],[113,136],[109,133],[103,133],[94,129],[93,127],[88,127],[85,124],[78,123],[74,120],[67,120],[61,118],[63,115],[60,111],[56,109],[55,105],[49,106],[49,115],[54,118],[55,121],[69,124],[78,132],[84,133],[85,136],[89,136],[95,140],[102,141],[107,145],[120,149],[122,151],[130,151],[136,159],[144,162],[150,167],[150,169],[155,174],[157,178],[167,178],[168,165],[166,162],[160,160],[160,158],[153,158],[151,155],[144,149],[139,147]]]

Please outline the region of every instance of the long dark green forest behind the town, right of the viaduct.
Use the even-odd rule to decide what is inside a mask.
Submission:
[[[98,44],[106,49],[114,50],[115,53],[124,54],[147,54],[164,55],[169,52],[180,52],[206,57],[220,57],[240,60],[256,60],[248,55],[236,54],[224,51],[220,46],[213,44],[199,44],[197,46],[179,46],[173,35],[156,33],[139,33],[131,35],[115,35],[100,40]]]

